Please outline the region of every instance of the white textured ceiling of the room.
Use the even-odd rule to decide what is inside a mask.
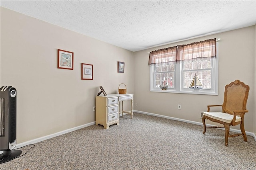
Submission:
[[[255,0],[1,0],[0,5],[130,51],[139,51],[256,23]]]

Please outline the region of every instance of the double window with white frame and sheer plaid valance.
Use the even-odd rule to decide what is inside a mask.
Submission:
[[[169,50],[164,49],[161,53],[159,51],[158,53],[153,53],[154,55],[151,55],[151,57],[154,59],[150,59],[153,62],[150,64],[149,61],[151,65],[150,91],[217,95],[218,57],[216,57],[216,54],[218,54],[218,43],[216,43],[216,39],[214,41],[214,48],[209,48],[212,44],[206,44],[193,47],[193,50],[191,50],[183,48],[184,45],[182,45],[168,48]],[[212,51],[215,52],[212,53]],[[209,54],[210,57],[208,57]],[[181,57],[178,55],[181,55]],[[190,88],[195,74],[203,85],[203,88],[200,90]],[[162,90],[161,87],[163,86],[168,86],[168,89]]]

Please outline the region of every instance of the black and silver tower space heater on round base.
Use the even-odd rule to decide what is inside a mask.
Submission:
[[[12,86],[0,88],[1,115],[0,115],[0,150],[1,164],[17,158],[21,150],[13,150],[16,147],[16,89]]]

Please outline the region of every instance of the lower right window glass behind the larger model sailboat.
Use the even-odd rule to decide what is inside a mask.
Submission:
[[[184,71],[184,84],[183,88],[189,88],[195,74],[198,76],[200,82],[204,86],[203,88],[211,88],[211,70],[202,71]]]

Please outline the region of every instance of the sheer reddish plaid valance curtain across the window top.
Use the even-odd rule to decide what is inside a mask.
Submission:
[[[152,51],[149,54],[148,65],[214,57],[216,57],[216,38]]]

